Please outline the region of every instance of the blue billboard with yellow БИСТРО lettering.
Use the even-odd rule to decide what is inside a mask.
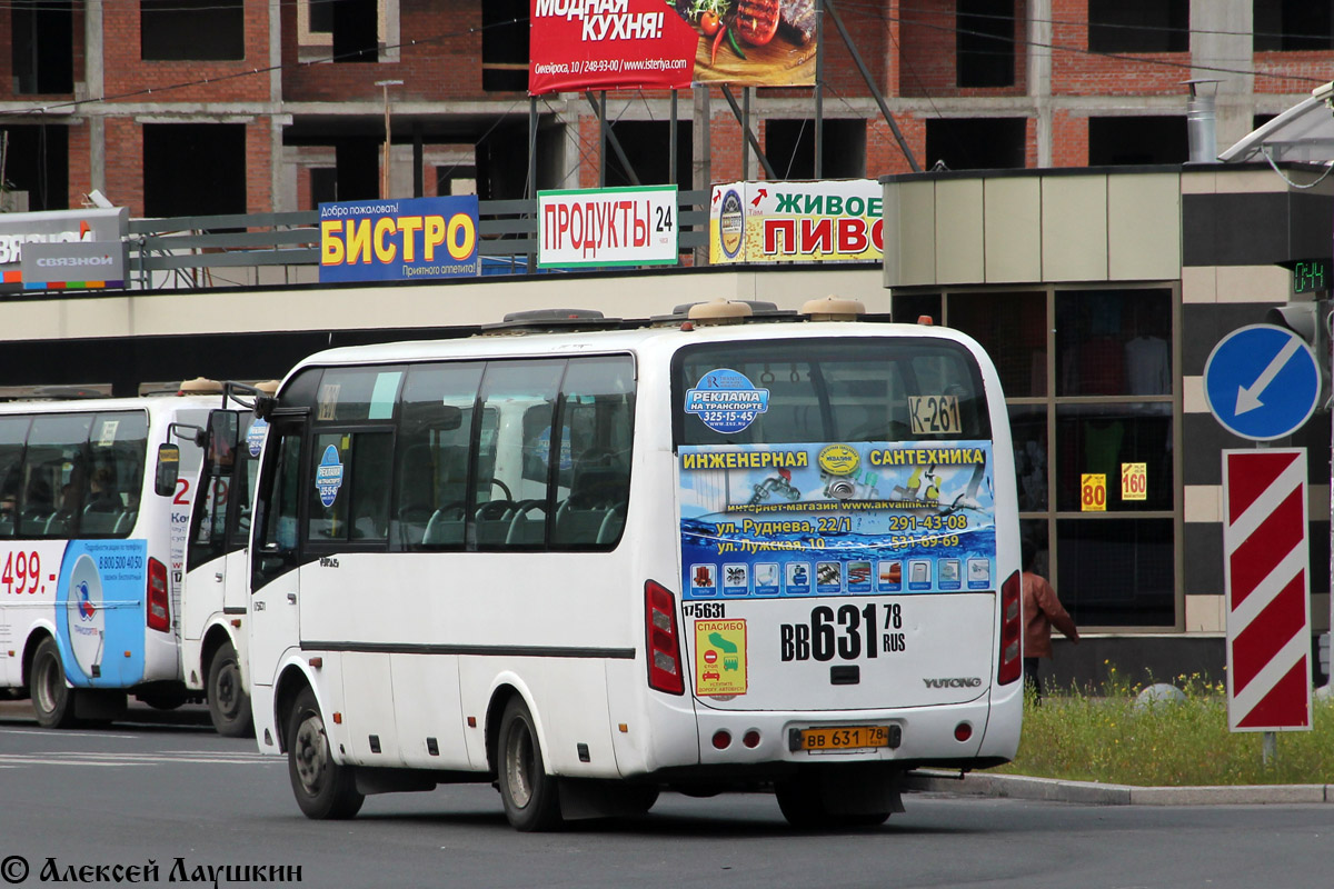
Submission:
[[[320,284],[479,273],[475,195],[320,204]]]

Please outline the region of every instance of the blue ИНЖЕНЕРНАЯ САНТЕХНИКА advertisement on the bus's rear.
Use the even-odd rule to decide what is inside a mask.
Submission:
[[[686,598],[995,588],[990,441],[680,448]]]

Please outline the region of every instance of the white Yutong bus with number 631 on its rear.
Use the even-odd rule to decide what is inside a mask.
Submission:
[[[662,789],[878,824],[906,769],[1010,760],[996,373],[852,307],[560,312],[295,368],[260,411],[249,665],[301,810],[495,781],[520,830]]]

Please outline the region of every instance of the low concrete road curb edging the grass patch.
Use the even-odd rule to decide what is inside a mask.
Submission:
[[[919,769],[904,776],[903,788],[928,793],[1082,802],[1086,805],[1278,805],[1334,802],[1334,785],[1254,784],[1241,786],[1139,788],[1097,781],[1062,781],[1022,774]]]

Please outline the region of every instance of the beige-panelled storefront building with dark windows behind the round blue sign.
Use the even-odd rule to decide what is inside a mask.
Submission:
[[[999,369],[1022,530],[1086,634],[1058,646],[1058,678],[1097,681],[1110,666],[1222,678],[1221,452],[1254,443],[1209,413],[1202,375],[1229,332],[1329,296],[1294,295],[1281,265],[1329,261],[1334,183],[1303,188],[1321,172],[1209,164],[882,180],[894,315],[964,331]],[[1273,444],[1309,448],[1322,633],[1329,415]]]

